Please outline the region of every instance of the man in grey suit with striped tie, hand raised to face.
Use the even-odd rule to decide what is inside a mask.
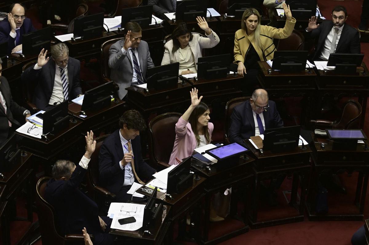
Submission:
[[[142,29],[137,22],[124,26],[125,38],[109,49],[110,78],[119,85],[118,96],[123,99],[132,85],[145,83],[146,69],[154,67],[147,42],[142,41]]]

